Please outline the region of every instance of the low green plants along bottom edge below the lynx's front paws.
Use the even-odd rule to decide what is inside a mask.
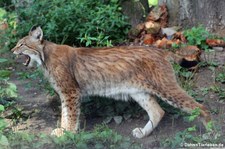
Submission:
[[[61,137],[52,137],[44,134],[32,135],[28,133],[9,134],[7,137],[11,148],[141,148],[139,144],[131,142],[129,138],[124,138],[105,126],[98,126],[91,132],[81,131],[79,134],[66,132]]]

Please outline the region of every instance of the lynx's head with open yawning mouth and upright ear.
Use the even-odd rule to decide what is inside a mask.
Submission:
[[[32,67],[36,63],[42,65],[44,61],[43,55],[43,32],[41,27],[32,27],[28,36],[18,41],[12,49],[13,54],[23,55],[26,57],[25,63],[27,67]]]

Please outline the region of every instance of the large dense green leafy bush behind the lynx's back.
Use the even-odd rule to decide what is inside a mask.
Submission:
[[[45,38],[76,46],[109,46],[123,41],[129,29],[117,0],[33,0],[16,8],[14,38],[41,25]]]

